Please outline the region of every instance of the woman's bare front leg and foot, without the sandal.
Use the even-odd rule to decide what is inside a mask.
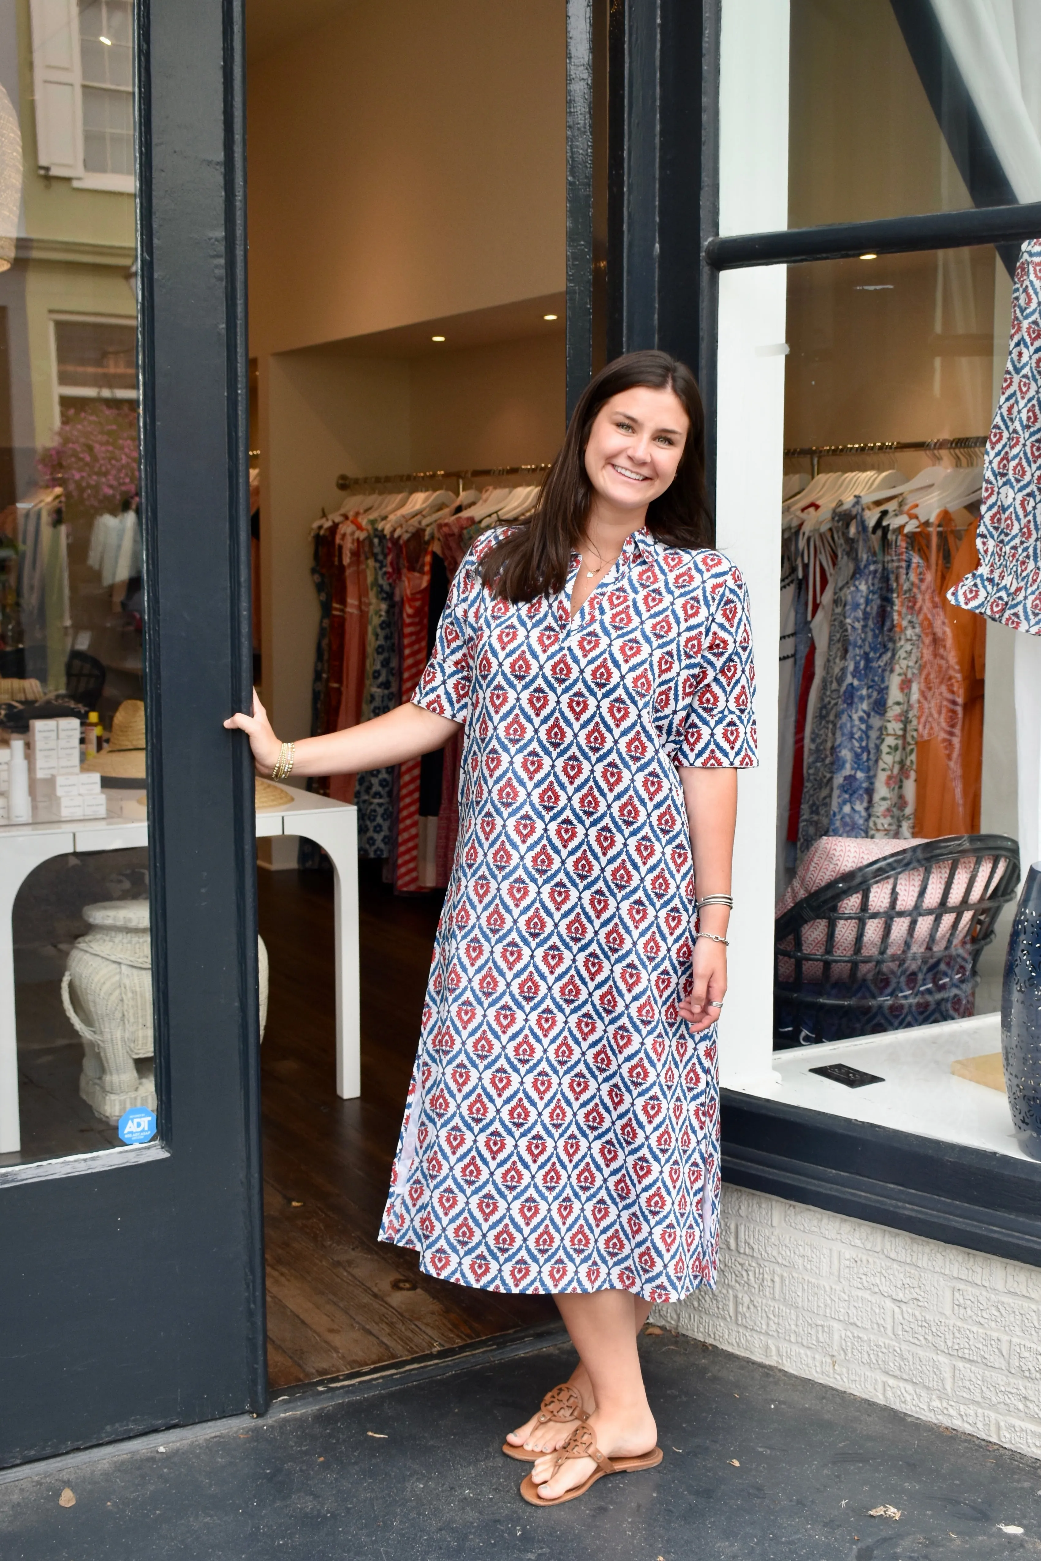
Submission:
[[[654,1447],[657,1427],[640,1372],[632,1296],[623,1289],[599,1289],[592,1296],[557,1296],[560,1316],[585,1366],[596,1400],[588,1425],[607,1458],[637,1458]],[[563,1495],[582,1485],[596,1464],[592,1458],[568,1458],[556,1478],[554,1458],[540,1458],[532,1480],[542,1495]]]

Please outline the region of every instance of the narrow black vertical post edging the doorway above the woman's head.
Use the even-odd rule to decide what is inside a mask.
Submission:
[[[593,372],[593,0],[567,11],[567,415]]]

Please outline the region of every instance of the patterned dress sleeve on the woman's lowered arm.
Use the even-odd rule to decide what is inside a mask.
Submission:
[[[755,665],[748,587],[721,554],[704,554],[710,612],[684,635],[676,763],[751,770],[755,754]]]

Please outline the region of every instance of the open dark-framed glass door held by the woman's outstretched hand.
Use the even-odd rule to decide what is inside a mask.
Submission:
[[[240,12],[0,0],[0,1464],[265,1402]]]

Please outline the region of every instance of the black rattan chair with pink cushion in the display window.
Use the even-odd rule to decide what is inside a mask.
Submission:
[[[1016,894],[1007,835],[947,835],[844,873],[774,930],[774,1044],[972,1015],[980,954]]]

